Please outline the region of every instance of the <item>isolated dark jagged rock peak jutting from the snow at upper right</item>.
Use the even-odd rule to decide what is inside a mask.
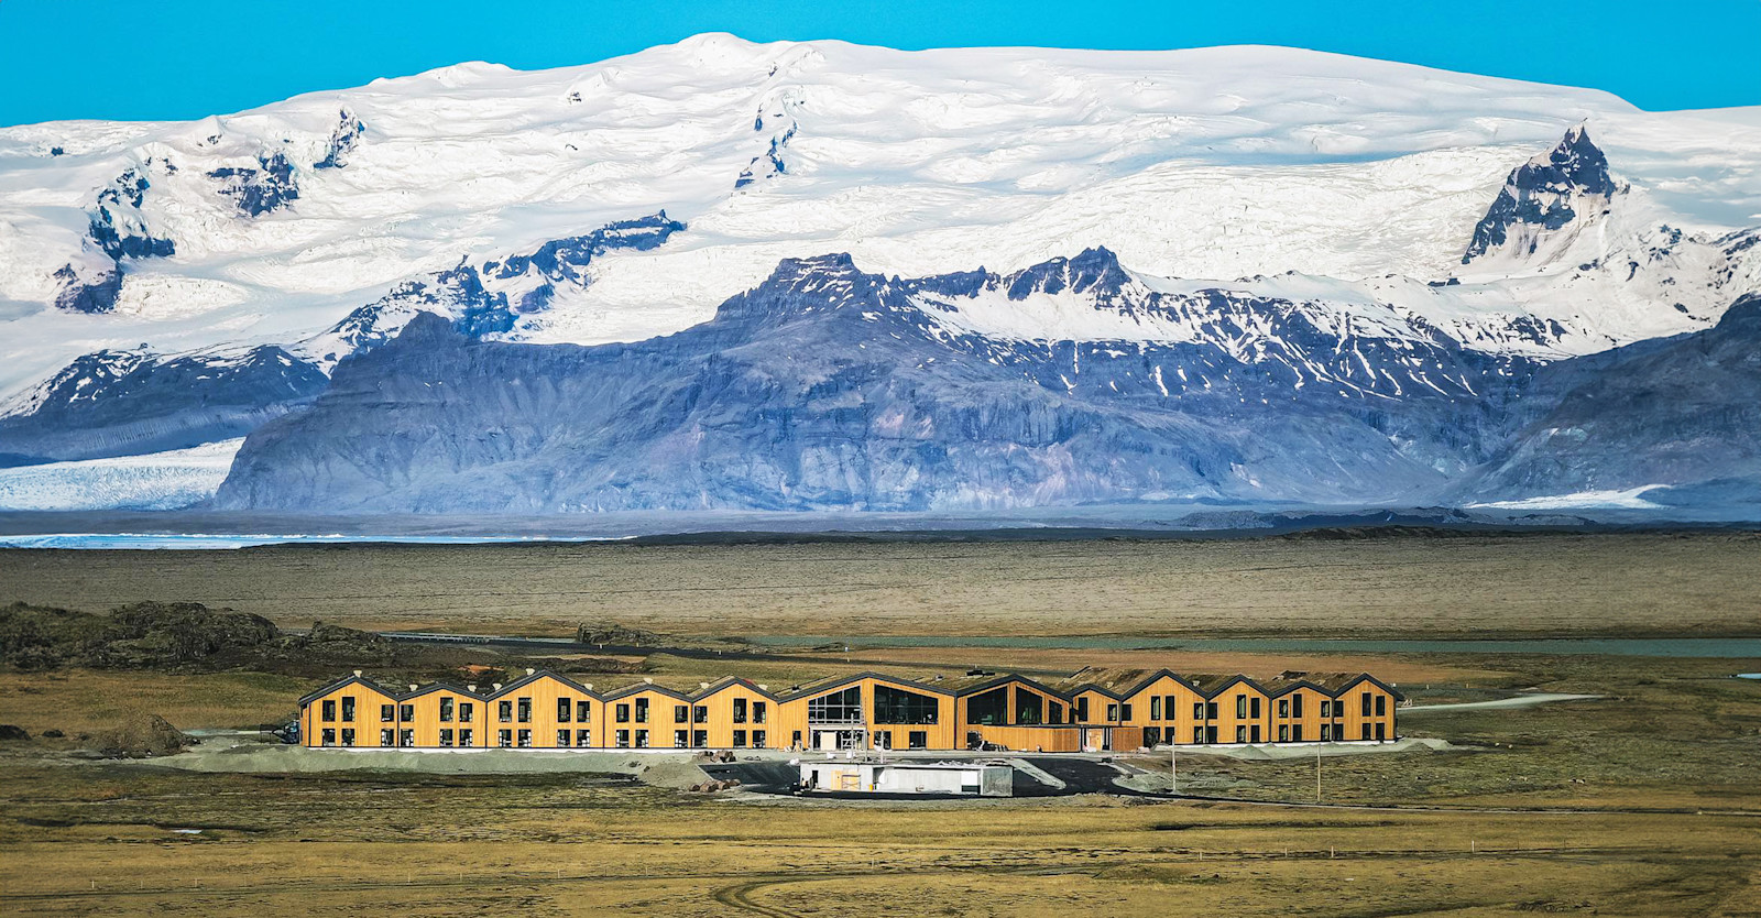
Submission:
[[[1553,150],[1511,171],[1499,197],[1474,226],[1462,264],[1492,252],[1536,255],[1560,231],[1599,217],[1618,192],[1608,174],[1608,157],[1580,125]]]

